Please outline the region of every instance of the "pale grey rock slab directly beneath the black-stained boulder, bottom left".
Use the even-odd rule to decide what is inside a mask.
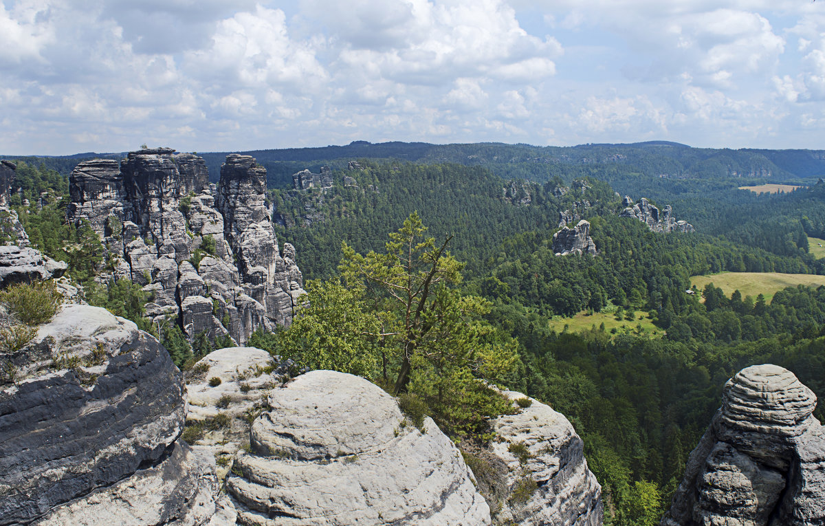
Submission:
[[[211,449],[191,448],[179,440],[157,465],[139,469],[112,486],[59,506],[33,524],[199,526],[214,518],[219,508],[218,492]]]

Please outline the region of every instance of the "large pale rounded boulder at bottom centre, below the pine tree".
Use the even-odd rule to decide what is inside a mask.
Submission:
[[[227,480],[240,524],[490,524],[455,444],[429,418],[404,425],[373,383],[313,371],[269,405]]]

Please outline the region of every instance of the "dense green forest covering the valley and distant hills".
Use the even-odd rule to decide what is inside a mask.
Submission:
[[[398,355],[382,353],[408,341],[347,340],[353,349],[369,350],[358,353],[364,360],[352,361],[313,355],[309,339],[329,334],[330,325],[312,321],[332,323],[330,312],[347,312],[348,322],[362,324],[359,334],[387,332],[376,320],[398,322],[389,315],[366,316],[396,308],[387,294],[371,288],[370,276],[381,271],[380,253],[392,248],[389,234],[407,228],[405,220],[420,218],[427,228],[422,235],[433,238],[426,250],[445,247],[450,259],[443,268],[450,280],[433,299],[442,325],[422,343],[431,345],[427,356],[441,362],[433,358],[416,370],[448,373],[413,374],[402,390],[415,394],[420,411],[453,436],[483,435],[483,419],[452,411],[460,405],[452,402],[471,397],[462,404],[476,404],[477,416],[483,416],[501,410],[493,398],[466,390],[453,392],[453,398],[434,394],[444,392],[441,387],[469,385],[468,375],[480,373],[457,350],[468,342],[483,346],[489,350],[485,363],[496,369],[488,378],[548,403],[573,422],[605,488],[606,524],[647,524],[662,513],[719,406],[724,382],[738,369],[779,364],[820,399],[825,396],[825,288],[789,288],[769,299],[738,291],[728,296],[713,284],[691,289],[691,276],[724,270],[825,274],[825,261],[808,247],[808,236],[825,237],[825,183],[818,181],[825,165],[818,153],[674,143],[353,143],[254,154],[271,169],[269,200],[279,240],[297,247],[318,308],[296,329],[257,334],[254,345],[398,387],[403,364]],[[218,162],[212,155],[217,154],[205,155],[210,168]],[[347,168],[353,160],[360,169]],[[321,166],[331,167],[331,187],[293,187],[293,173]],[[96,271],[112,262],[104,260],[93,232],[65,223],[65,174],[54,158],[18,163],[21,192],[12,205],[32,244],[67,261],[91,303],[157,333],[143,317],[146,298],[139,287],[95,283]],[[744,178],[807,187],[756,195],[738,190]],[[39,209],[35,204],[43,192]],[[646,196],[660,208],[672,204],[676,218],[693,223],[696,232],[651,232],[634,218],[619,217],[625,194]],[[597,256],[554,255],[559,212],[566,210],[590,221]],[[372,274],[353,270],[366,263],[373,265]],[[464,322],[450,318],[459,311],[466,314]],[[582,313],[625,320],[631,330],[610,331],[595,322],[577,332],[550,328],[551,318]],[[632,330],[641,317],[658,327],[656,335]],[[182,367],[229,345],[187,342],[173,324],[158,336]],[[447,336],[455,336],[450,349],[438,344]],[[815,415],[825,416],[821,407]],[[640,507],[650,495],[655,505]]]

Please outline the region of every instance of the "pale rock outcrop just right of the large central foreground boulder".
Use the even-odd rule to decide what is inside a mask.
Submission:
[[[496,524],[601,526],[601,486],[587,468],[582,439],[562,414],[521,392],[530,405],[493,423],[493,454],[507,466]]]

